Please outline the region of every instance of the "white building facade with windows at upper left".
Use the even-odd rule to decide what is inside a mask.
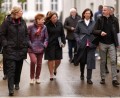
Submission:
[[[26,20],[34,19],[37,13],[46,14],[53,10],[60,16],[62,8],[62,0],[26,0],[23,4],[18,0],[4,0],[2,7],[5,12],[9,12],[15,5],[21,5],[23,8],[23,18]]]

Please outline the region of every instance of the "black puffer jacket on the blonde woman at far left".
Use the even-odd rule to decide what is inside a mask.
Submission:
[[[20,60],[27,57],[28,32],[22,18],[13,20],[10,15],[7,16],[0,26],[0,39],[4,58]]]

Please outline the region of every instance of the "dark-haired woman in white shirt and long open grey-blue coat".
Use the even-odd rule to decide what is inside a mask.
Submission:
[[[77,61],[80,63],[81,80],[84,80],[84,68],[87,64],[87,83],[93,84],[92,69],[95,69],[95,49],[91,43],[92,30],[95,22],[92,20],[93,13],[87,8],[82,13],[82,20],[76,26],[74,36],[77,42]]]

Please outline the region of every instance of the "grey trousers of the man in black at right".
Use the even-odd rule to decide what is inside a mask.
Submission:
[[[112,80],[117,80],[117,65],[116,65],[116,48],[114,44],[99,44],[100,47],[100,56],[101,56],[101,62],[100,62],[100,74],[101,78],[105,79],[105,64],[106,64],[106,53],[109,53],[110,56],[110,62],[111,62],[111,73],[112,73]]]

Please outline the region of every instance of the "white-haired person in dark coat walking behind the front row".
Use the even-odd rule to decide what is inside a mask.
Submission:
[[[77,14],[77,11],[75,8],[70,9],[70,16],[65,19],[64,22],[64,28],[67,30],[67,36],[66,39],[68,40],[68,54],[69,54],[69,61],[71,62],[73,59],[73,48],[75,52],[76,47],[76,41],[74,38],[74,30],[77,25],[78,20],[80,20],[81,17]]]

